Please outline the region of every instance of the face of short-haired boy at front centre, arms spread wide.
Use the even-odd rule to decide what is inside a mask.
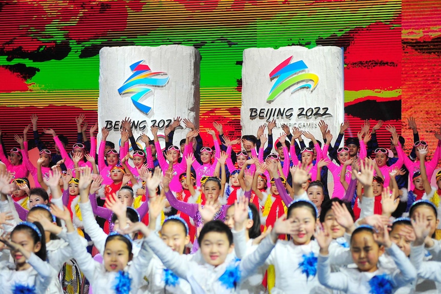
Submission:
[[[200,245],[205,262],[213,266],[223,264],[227,255],[233,250],[233,245],[230,245],[227,234],[219,232],[205,234]]]

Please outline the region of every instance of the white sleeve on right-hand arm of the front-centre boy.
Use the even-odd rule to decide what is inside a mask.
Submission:
[[[257,249],[247,255],[240,261],[240,280],[245,281],[250,275],[256,272],[256,270],[262,266],[270,256],[275,244],[271,239],[271,234],[265,237],[257,246]]]

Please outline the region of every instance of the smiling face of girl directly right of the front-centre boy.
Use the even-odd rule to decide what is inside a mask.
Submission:
[[[299,223],[299,230],[295,235],[292,235],[294,244],[304,245],[311,241],[316,227],[316,219],[311,212],[311,209],[306,207],[298,207],[291,211],[290,219],[294,219],[294,223]]]

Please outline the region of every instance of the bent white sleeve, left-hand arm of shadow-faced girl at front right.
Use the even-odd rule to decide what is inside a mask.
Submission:
[[[331,273],[329,256],[319,254],[317,262],[317,277],[323,286],[346,292],[348,290],[348,277],[343,273]]]

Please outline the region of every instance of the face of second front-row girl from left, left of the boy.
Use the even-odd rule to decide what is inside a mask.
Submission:
[[[118,239],[112,239],[106,243],[104,249],[104,267],[107,272],[119,272],[124,270],[131,259],[127,244]]]

